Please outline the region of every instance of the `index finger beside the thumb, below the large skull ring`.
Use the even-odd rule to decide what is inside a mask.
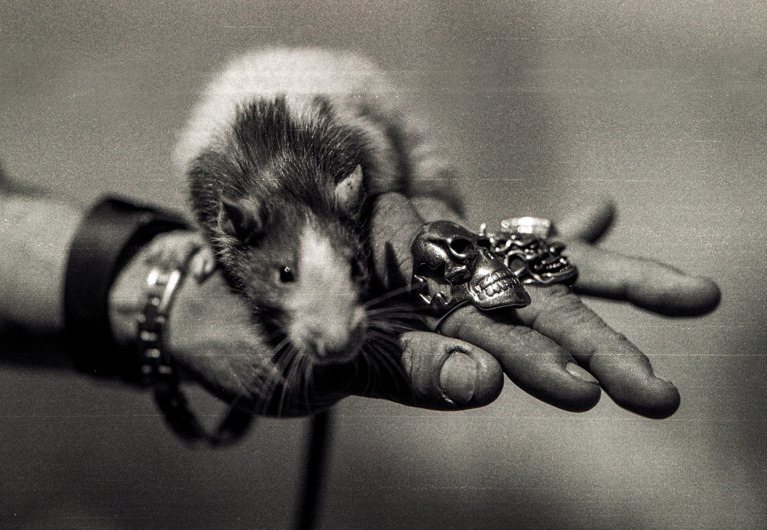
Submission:
[[[449,315],[440,331],[489,351],[514,384],[545,403],[571,412],[594,407],[601,395],[597,380],[565,348],[520,324],[510,311],[466,306]]]

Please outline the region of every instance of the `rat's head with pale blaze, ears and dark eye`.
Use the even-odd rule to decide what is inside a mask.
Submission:
[[[364,342],[367,252],[354,229],[362,202],[357,166],[311,202],[276,193],[222,204],[233,240],[227,271],[265,324],[319,362],[349,360]]]

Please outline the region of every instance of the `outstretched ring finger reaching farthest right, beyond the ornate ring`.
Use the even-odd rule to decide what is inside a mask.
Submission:
[[[713,311],[721,294],[708,278],[688,276],[650,259],[630,258],[590,245],[568,245],[565,255],[578,267],[574,289],[584,295],[626,300],[670,316]]]

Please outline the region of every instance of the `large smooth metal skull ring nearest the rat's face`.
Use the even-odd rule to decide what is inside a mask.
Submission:
[[[413,240],[413,284],[420,301],[439,313],[466,303],[484,310],[530,304],[489,239],[449,221],[426,223]]]

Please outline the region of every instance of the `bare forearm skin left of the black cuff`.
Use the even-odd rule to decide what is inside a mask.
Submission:
[[[83,212],[41,197],[2,196],[0,318],[35,333],[64,327],[64,271]]]

